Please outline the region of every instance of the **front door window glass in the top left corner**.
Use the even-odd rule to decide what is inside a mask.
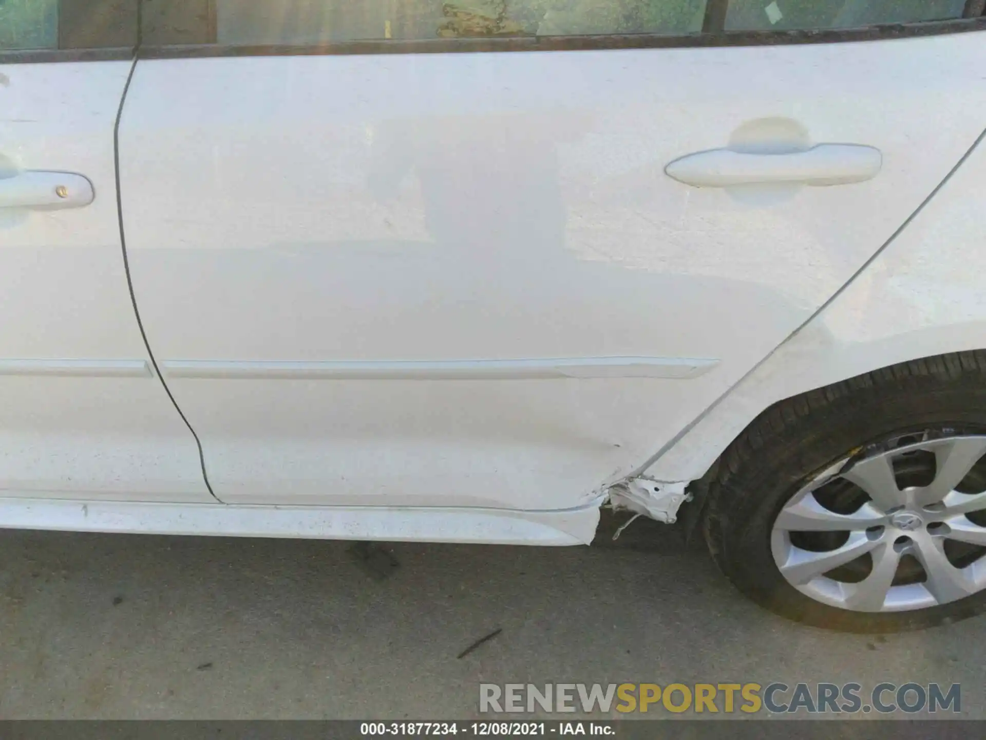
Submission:
[[[0,50],[137,43],[139,0],[0,0]]]

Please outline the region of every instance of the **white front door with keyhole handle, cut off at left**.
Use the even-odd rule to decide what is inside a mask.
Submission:
[[[0,496],[215,501],[127,286],[136,2],[0,4]]]

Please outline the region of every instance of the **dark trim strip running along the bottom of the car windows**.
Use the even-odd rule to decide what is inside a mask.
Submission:
[[[705,24],[720,25],[728,0],[709,0]],[[968,0],[966,11],[986,0]],[[711,19],[711,20],[710,20]],[[187,59],[238,56],[336,56],[351,54],[436,54],[508,51],[588,51],[648,48],[708,48],[724,46],[783,46],[846,43],[893,38],[935,37],[986,31],[986,15],[948,21],[884,24],[856,29],[803,31],[711,31],[678,36],[621,34],[604,36],[474,37],[419,40],[379,39],[325,44],[188,44],[138,45],[122,48],[40,49],[0,51],[0,64],[119,61],[129,59]]]

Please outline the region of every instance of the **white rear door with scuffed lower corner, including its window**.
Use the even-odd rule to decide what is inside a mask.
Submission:
[[[986,127],[953,0],[152,6],[127,251],[225,501],[576,506]]]

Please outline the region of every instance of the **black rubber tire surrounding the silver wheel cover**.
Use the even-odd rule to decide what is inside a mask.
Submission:
[[[914,360],[779,402],[754,419],[709,474],[706,543],[726,576],[770,611],[815,627],[921,629],[986,609],[986,589],[950,604],[863,613],[791,586],[770,551],[774,519],[799,489],[868,444],[934,428],[986,433],[986,351]],[[976,467],[978,470],[982,463]]]

